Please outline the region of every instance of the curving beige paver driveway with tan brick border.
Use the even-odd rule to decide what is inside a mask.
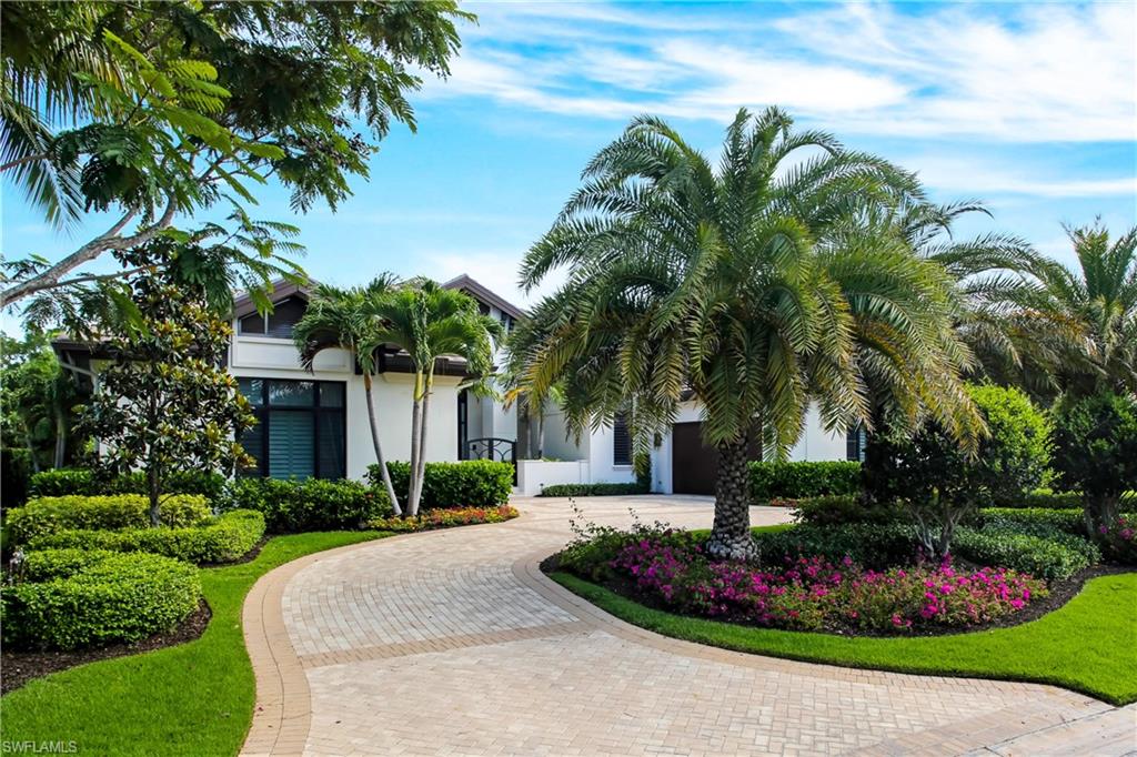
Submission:
[[[703,498],[581,499],[598,523],[707,527]],[[545,579],[566,500],[268,574],[244,607],[244,751],[310,755],[1126,754],[1132,707],[1060,689],[853,671],[663,639]],[[755,524],[783,510],[754,508]]]

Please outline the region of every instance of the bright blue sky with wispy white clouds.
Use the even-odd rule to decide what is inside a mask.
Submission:
[[[517,265],[640,114],[709,156],[740,107],[777,105],[915,170],[932,199],[979,199],[960,234],[1018,234],[1067,264],[1063,224],[1137,225],[1137,5],[467,2],[451,76],[412,97],[370,182],[334,214],[289,210],[269,185],[254,217],[301,228],[315,278],[467,273],[525,305]],[[57,259],[109,225],[49,228],[2,188],[9,258]],[[102,264],[105,265],[105,264]],[[18,321],[7,314],[0,326]]]

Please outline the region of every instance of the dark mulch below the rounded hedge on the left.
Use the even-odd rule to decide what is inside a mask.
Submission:
[[[98,649],[77,649],[75,651],[7,651],[0,654],[0,693],[8,693],[22,685],[50,673],[66,671],[76,665],[86,665],[100,659],[125,657],[140,652],[153,651],[164,647],[193,641],[205,633],[213,613],[205,599],[198,609],[169,633],[158,633],[132,644],[111,644]]]

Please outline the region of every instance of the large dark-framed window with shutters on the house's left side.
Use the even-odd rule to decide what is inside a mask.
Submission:
[[[342,382],[239,378],[257,425],[241,446],[257,463],[249,475],[342,479],[347,475],[346,389]]]

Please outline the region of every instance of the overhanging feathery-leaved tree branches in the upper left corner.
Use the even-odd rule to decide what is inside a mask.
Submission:
[[[334,209],[391,122],[414,128],[413,72],[446,76],[455,22],[472,18],[451,0],[5,2],[0,173],[56,225],[116,221],[58,261],[9,261],[0,306],[76,284],[125,292],[121,272],[68,276],[223,197],[255,203],[250,183],[269,176],[296,211]]]

